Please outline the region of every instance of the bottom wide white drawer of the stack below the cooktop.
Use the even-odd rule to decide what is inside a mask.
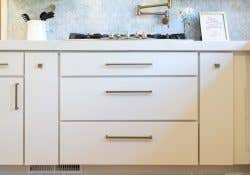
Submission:
[[[197,165],[196,122],[63,122],[61,164]]]

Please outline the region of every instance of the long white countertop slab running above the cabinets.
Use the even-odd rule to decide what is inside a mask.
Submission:
[[[0,51],[250,51],[249,41],[64,40],[0,41]]]

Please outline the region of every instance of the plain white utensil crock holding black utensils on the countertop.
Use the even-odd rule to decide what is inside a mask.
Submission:
[[[41,20],[30,20],[27,22],[27,40],[47,40],[46,22]]]

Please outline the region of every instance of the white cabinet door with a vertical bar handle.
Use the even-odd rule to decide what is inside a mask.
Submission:
[[[0,165],[23,164],[23,78],[0,77]]]

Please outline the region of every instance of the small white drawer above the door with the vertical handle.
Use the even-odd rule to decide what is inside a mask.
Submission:
[[[0,52],[0,76],[23,75],[24,53]]]

